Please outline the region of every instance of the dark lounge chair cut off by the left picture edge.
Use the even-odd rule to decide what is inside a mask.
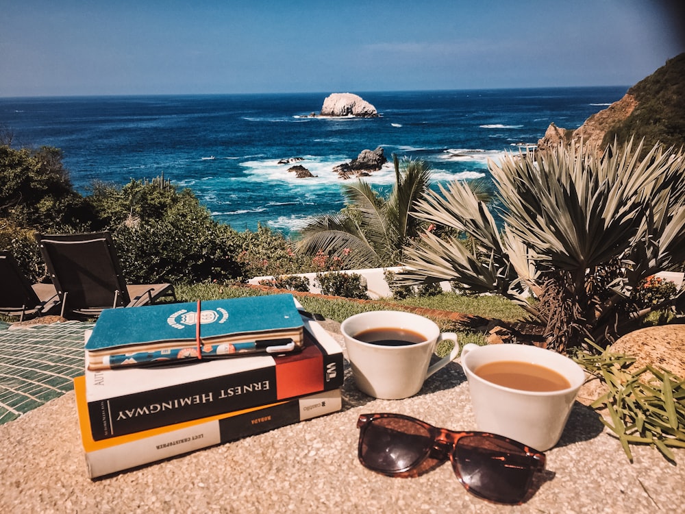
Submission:
[[[47,314],[60,303],[55,286],[31,284],[10,252],[0,251],[0,282],[0,314],[19,321]]]

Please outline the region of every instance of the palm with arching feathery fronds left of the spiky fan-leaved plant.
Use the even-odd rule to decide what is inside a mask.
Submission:
[[[422,160],[395,163],[395,186],[380,195],[367,182],[343,186],[347,207],[334,215],[316,217],[299,230],[297,249],[321,252],[347,269],[396,265],[403,248],[418,236],[421,221],[410,214],[429,191],[430,167]]]

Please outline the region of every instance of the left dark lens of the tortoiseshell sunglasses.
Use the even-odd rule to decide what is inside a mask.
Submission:
[[[359,460],[376,472],[397,474],[416,466],[431,448],[429,431],[410,419],[373,419],[360,432]]]

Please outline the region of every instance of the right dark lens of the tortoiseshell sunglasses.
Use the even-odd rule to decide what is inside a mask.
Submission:
[[[494,502],[521,502],[538,467],[523,448],[496,437],[462,437],[455,452],[452,463],[466,489]]]

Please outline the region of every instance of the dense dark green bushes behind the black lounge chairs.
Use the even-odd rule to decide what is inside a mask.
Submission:
[[[314,271],[290,242],[268,228],[236,232],[212,219],[189,189],[164,177],[74,190],[58,149],[13,149],[0,133],[0,247],[27,277],[45,276],[34,232],[112,232],[127,280],[226,281]]]

